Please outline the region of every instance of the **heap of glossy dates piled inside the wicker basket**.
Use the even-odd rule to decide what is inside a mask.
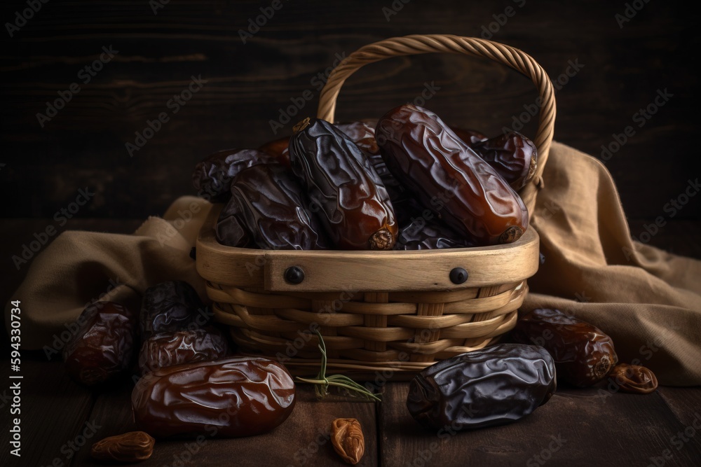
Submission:
[[[536,146],[487,139],[414,105],[376,121],[306,118],[292,137],[219,151],[193,186],[226,203],[219,243],[258,249],[417,250],[515,242],[529,225],[517,194]]]

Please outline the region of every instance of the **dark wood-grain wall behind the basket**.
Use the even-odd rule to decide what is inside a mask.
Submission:
[[[72,216],[160,214],[194,193],[189,177],[198,159],[258,146],[313,115],[339,57],[422,33],[491,37],[533,55],[559,83],[555,139],[608,159],[630,218],[666,215],[665,204],[701,175],[699,15],[686,4],[3,2],[1,216],[52,218],[80,190],[95,194]],[[536,99],[528,80],[501,65],[424,55],[359,71],[343,88],[337,115],[376,118],[427,87],[428,108],[488,133],[512,125]],[[287,120],[290,106],[297,115]],[[531,122],[523,131],[533,129]],[[701,195],[676,217],[698,220]]]

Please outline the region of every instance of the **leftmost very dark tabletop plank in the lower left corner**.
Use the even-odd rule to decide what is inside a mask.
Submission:
[[[10,367],[8,351],[2,355],[1,365]],[[66,374],[60,362],[49,362],[43,355],[22,352],[20,372],[22,379],[4,378],[0,410],[7,414],[3,426],[4,446],[0,449],[1,466],[68,466],[76,452],[89,445],[95,428],[88,416],[93,405],[90,389],[76,384]],[[7,372],[3,372],[4,375]],[[13,373],[14,374],[14,373]],[[13,393],[9,387],[20,382],[20,414],[10,414]],[[20,417],[21,456],[10,454],[8,436],[15,417]],[[95,428],[95,429],[93,429]],[[78,435],[81,434],[81,437]],[[83,437],[84,435],[84,437]]]

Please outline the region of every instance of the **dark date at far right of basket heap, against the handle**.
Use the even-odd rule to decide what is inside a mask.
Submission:
[[[533,141],[517,132],[480,141],[472,148],[514,190],[520,190],[536,173],[538,151]]]

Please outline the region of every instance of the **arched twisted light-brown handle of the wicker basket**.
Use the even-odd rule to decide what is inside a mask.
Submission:
[[[421,53],[461,53],[474,57],[485,57],[495,62],[505,64],[519,73],[531,78],[538,88],[540,95],[540,115],[538,132],[533,143],[538,148],[538,167],[530,183],[519,190],[529,211],[533,212],[538,188],[543,186],[543,169],[550,152],[552,132],[555,125],[555,93],[543,67],[540,67],[533,57],[514,47],[505,44],[477,39],[474,37],[452,36],[449,34],[414,34],[411,36],[393,37],[362,46],[348,55],[329,75],[326,85],[319,97],[318,118],[334,121],[336,98],[341,86],[355,71],[365,64],[379,62],[390,57],[401,55],[418,55]]]

